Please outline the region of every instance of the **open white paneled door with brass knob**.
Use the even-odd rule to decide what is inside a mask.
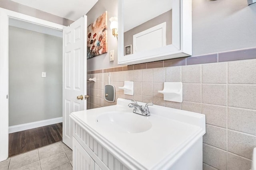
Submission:
[[[63,142],[72,149],[70,113],[86,109],[86,37],[87,17],[63,29]],[[83,100],[77,96],[83,96]]]

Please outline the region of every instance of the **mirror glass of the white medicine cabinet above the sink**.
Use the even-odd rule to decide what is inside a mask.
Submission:
[[[172,0],[124,0],[123,15],[125,56],[172,44]]]

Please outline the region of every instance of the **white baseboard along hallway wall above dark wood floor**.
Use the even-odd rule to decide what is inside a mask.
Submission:
[[[62,117],[57,117],[53,119],[34,121],[31,123],[24,123],[21,125],[9,126],[9,133],[24,131],[24,130],[33,129],[36,127],[42,127],[42,126],[52,125],[52,124],[61,123],[61,122],[62,122]]]

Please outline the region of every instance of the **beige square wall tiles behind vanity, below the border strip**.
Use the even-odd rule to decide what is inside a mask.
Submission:
[[[256,147],[256,59],[111,72],[117,98],[154,102],[206,115],[204,170],[249,170]],[[116,104],[104,100],[108,73],[89,74],[87,109]],[[118,89],[134,81],[134,95]],[[163,82],[183,82],[183,102],[163,100]]]

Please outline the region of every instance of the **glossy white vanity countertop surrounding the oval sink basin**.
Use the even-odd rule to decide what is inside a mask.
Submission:
[[[205,133],[205,115],[163,106],[150,106],[151,115],[137,115],[128,107],[130,100],[118,99],[117,105],[71,113],[116,158],[128,159],[128,168],[159,169],[173,164],[180,153]],[[144,105],[143,103],[138,103]],[[97,122],[99,115],[109,111],[135,114],[148,119],[152,127],[142,133],[122,133]],[[134,122],[130,122],[134,123]],[[138,122],[136,122],[138,123]],[[179,154],[178,154],[179,153]]]

